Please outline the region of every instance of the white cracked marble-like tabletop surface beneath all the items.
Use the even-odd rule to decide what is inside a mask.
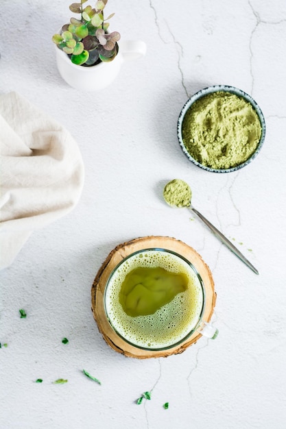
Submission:
[[[51,35],[68,6],[1,0],[0,91],[20,93],[67,127],[86,180],[75,210],[34,232],[1,273],[0,428],[285,428],[285,1],[110,0],[112,29],[144,40],[147,54],[87,94],[56,69]],[[202,171],[178,145],[182,105],[213,84],[245,90],[265,115],[264,147],[236,173]],[[259,275],[187,209],[165,205],[163,186],[175,177]],[[141,361],[106,345],[90,290],[113,247],[150,234],[184,241],[209,265],[219,336]],[[53,384],[58,378],[69,381]],[[144,391],[152,400],[138,406]]]

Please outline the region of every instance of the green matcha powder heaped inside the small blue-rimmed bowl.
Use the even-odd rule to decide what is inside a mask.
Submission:
[[[195,101],[182,121],[187,151],[211,169],[230,169],[248,160],[259,145],[261,132],[251,103],[225,91]]]

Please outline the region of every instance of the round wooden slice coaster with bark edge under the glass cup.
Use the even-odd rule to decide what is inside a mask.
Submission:
[[[193,334],[180,345],[176,345],[176,347],[172,347],[168,350],[154,352],[152,350],[142,350],[130,345],[111,328],[104,310],[104,289],[110,273],[115,269],[119,262],[121,262],[121,260],[126,258],[126,256],[129,256],[139,250],[150,249],[153,247],[171,250],[182,255],[184,258],[189,260],[195,269],[197,269],[198,273],[200,273],[206,293],[203,316],[203,319],[206,322],[210,321],[211,316],[213,315],[217,297],[214,289],[213,276],[206,263],[202,260],[202,257],[195,251],[195,249],[182,241],[176,240],[176,238],[147,236],[135,238],[132,241],[122,243],[115,247],[102,264],[102,267],[100,267],[93,282],[93,286],[91,288],[91,310],[93,311],[93,317],[95,318],[99,331],[102,333],[106,343],[108,343],[108,345],[110,345],[110,347],[112,347],[116,352],[139,359],[166,357],[171,354],[182,353],[191,344],[196,343],[202,336],[198,331],[193,332]]]

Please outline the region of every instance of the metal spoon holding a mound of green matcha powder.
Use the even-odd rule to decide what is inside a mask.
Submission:
[[[167,185],[164,188],[163,196],[167,204],[169,206],[176,206],[176,207],[187,207],[190,210],[192,210],[200,219],[210,228],[211,231],[217,236],[228,249],[230,249],[242,262],[244,262],[254,273],[259,274],[257,269],[252,265],[252,263],[246,259],[241,252],[239,252],[239,249],[231,243],[228,238],[222,234],[215,226],[206,219],[202,213],[198,212],[192,205],[191,205],[191,188],[190,186],[184,182],[183,180],[174,179],[171,180],[171,182],[167,183]]]

